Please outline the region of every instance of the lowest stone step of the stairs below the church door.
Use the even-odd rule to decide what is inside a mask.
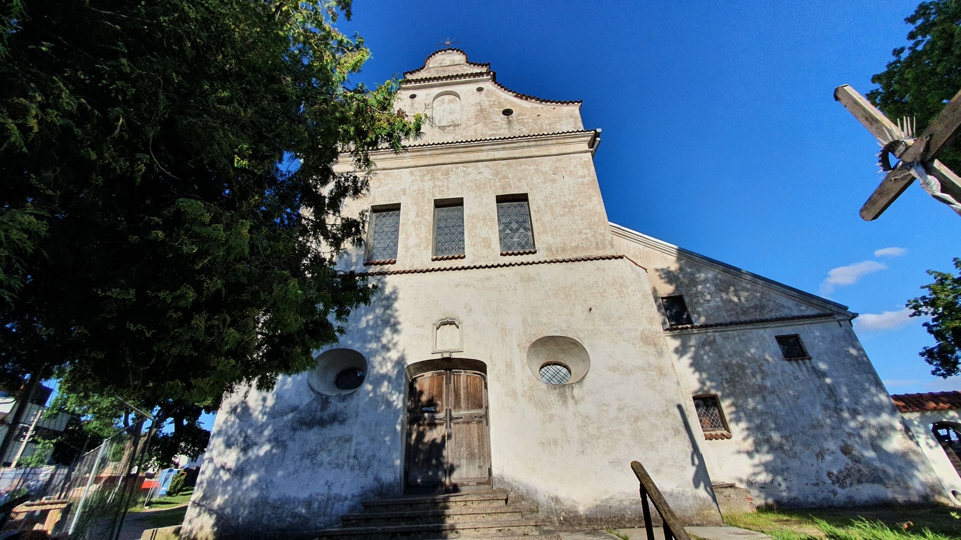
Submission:
[[[316,540],[401,540],[432,538],[498,538],[530,536],[540,531],[536,520],[340,527],[317,531]]]

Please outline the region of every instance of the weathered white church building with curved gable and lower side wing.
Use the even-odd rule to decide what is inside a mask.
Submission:
[[[492,488],[553,528],[635,526],[640,461],[678,516],[947,501],[847,307],[607,221],[579,102],[437,51],[377,153],[342,268],[380,290],[315,369],[217,413],[185,537],[296,536],[361,501]]]

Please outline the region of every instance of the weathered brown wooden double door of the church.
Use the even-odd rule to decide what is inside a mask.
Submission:
[[[491,485],[487,380],[448,369],[410,381],[407,490],[465,491]]]

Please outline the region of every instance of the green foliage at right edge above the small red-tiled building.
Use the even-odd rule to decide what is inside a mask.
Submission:
[[[912,317],[931,317],[924,329],[937,343],[924,347],[921,356],[934,366],[931,375],[946,378],[961,374],[961,258],[954,258],[954,268],[957,276],[928,270],[934,282],[921,287],[927,294],[906,304]]]

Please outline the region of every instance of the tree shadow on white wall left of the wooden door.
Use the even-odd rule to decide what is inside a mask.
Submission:
[[[357,501],[401,493],[407,358],[397,346],[396,299],[381,284],[334,346],[366,358],[356,391],[322,395],[303,373],[279,378],[272,392],[225,399],[185,538],[313,537]],[[372,410],[381,414],[365,414]]]

